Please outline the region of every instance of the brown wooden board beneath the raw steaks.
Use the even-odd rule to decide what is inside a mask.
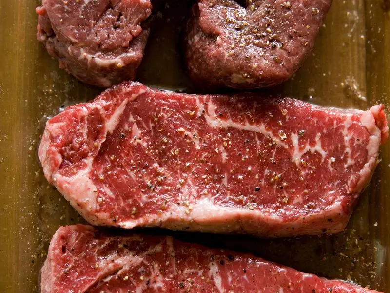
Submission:
[[[178,53],[191,2],[168,3],[137,80],[196,92]],[[39,292],[51,236],[60,225],[83,221],[44,179],[37,146],[48,116],[101,91],[60,70],[36,41],[37,5],[0,0],[0,291],[6,293]],[[389,9],[389,0],[334,0],[312,56],[291,81],[273,90],[344,108],[384,103],[390,114]],[[390,292],[390,143],[382,147],[382,162],[345,232],[278,240],[156,230],[162,232]]]

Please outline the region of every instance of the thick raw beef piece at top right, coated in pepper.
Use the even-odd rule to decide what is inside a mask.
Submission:
[[[245,2],[245,1],[240,1]],[[199,0],[186,60],[203,87],[259,88],[289,79],[314,46],[332,0]]]

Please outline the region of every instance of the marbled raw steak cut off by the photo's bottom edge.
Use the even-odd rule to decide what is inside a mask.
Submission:
[[[41,272],[41,293],[377,292],[251,254],[166,236],[114,236],[85,225],[57,230]]]

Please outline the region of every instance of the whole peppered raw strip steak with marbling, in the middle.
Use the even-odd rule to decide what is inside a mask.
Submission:
[[[344,229],[387,137],[383,105],[126,82],[50,119],[39,158],[91,224],[292,236]]]

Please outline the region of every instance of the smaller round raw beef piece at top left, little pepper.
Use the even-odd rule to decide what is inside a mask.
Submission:
[[[43,0],[37,38],[59,66],[84,83],[133,80],[149,36],[149,0]]]

